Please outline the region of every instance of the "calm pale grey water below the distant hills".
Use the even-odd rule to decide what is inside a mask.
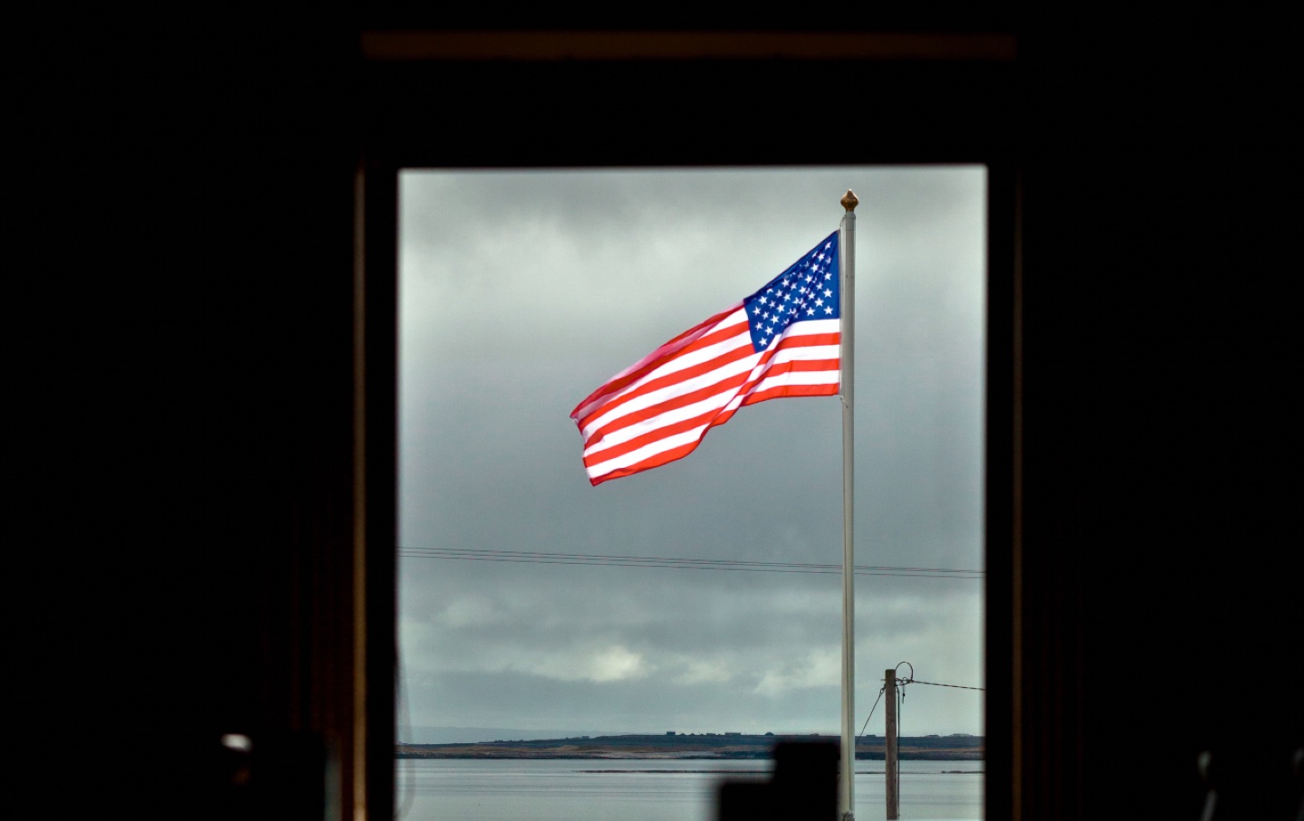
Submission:
[[[713,821],[722,778],[768,778],[768,761],[395,761],[403,821]],[[904,761],[901,817],[979,821],[981,761]],[[884,817],[882,761],[855,765],[855,818]]]

